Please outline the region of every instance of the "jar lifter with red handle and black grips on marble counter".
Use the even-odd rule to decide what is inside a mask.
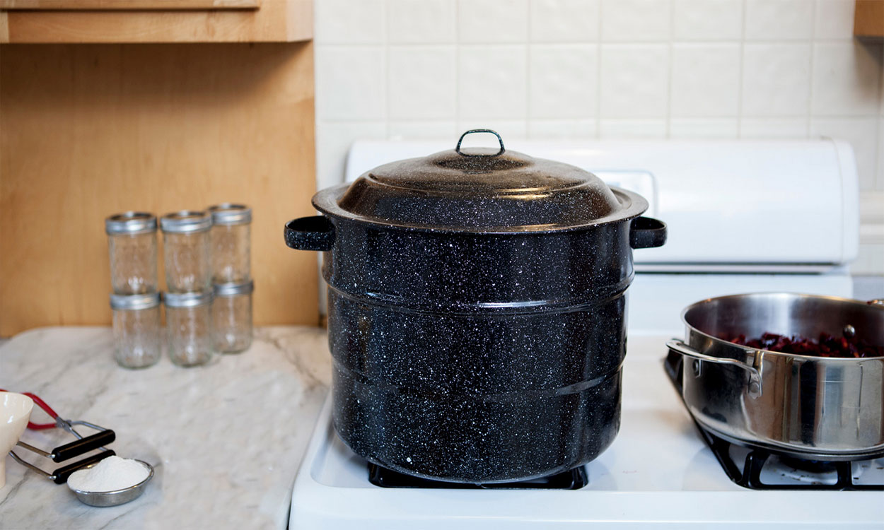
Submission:
[[[6,392],[6,391],[8,391],[8,390],[0,389],[0,392]],[[101,452],[99,452],[95,455],[92,455],[91,457],[83,458],[81,460],[77,460],[76,462],[73,462],[73,463],[68,464],[66,466],[58,467],[52,473],[48,473],[46,471],[43,471],[39,467],[26,462],[24,459],[19,457],[19,455],[15,454],[15,451],[9,451],[9,454],[12,457],[12,459],[14,459],[16,462],[18,462],[22,466],[26,466],[29,469],[32,469],[35,472],[42,474],[46,478],[50,479],[50,481],[54,481],[56,484],[64,484],[67,481],[67,478],[69,476],[71,476],[71,473],[73,473],[79,469],[82,469],[84,467],[92,466],[93,464],[103,460],[104,458],[108,458],[110,456],[117,454],[114,451],[111,451],[110,449],[106,449],[104,447],[108,443],[111,443],[117,439],[117,434],[114,433],[109,428],[103,428],[98,425],[95,425],[94,423],[89,423],[88,421],[65,420],[65,419],[61,418],[54,410],[52,410],[52,407],[50,407],[50,405],[46,405],[46,402],[43,401],[38,396],[32,394],[31,392],[22,392],[22,394],[24,394],[28,398],[33,399],[34,403],[37,406],[42,408],[43,411],[45,411],[47,414],[50,415],[50,417],[53,420],[55,420],[54,423],[34,423],[33,421],[28,421],[27,428],[32,429],[32,430],[43,430],[43,429],[48,429],[48,428],[63,428],[67,432],[76,436],[77,439],[71,443],[65,443],[64,445],[59,445],[58,447],[56,447],[52,451],[43,451],[40,448],[34,447],[33,445],[31,445],[29,443],[24,443],[20,440],[18,443],[16,443],[16,445],[19,445],[20,447],[27,449],[27,451],[34,452],[42,457],[49,458],[53,462],[64,462],[65,460],[68,460],[70,458],[79,457],[81,454],[86,453],[88,451],[92,451],[95,449],[101,450]],[[98,432],[95,433],[94,435],[88,435],[88,436],[80,435],[80,433],[78,433],[76,430],[74,430],[74,428],[73,428],[74,425],[83,425],[88,428],[93,428],[93,429],[97,430]]]

